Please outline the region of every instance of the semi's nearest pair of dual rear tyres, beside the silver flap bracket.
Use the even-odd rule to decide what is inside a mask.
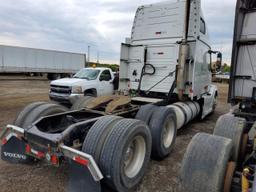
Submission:
[[[91,154],[112,190],[134,190],[148,166],[152,138],[139,120],[101,117],[89,130],[82,151]]]

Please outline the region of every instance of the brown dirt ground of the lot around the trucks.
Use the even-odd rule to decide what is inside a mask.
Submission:
[[[137,192],[176,192],[178,173],[186,147],[198,132],[211,133],[218,117],[229,110],[227,84],[217,84],[219,103],[214,114],[203,121],[194,121],[178,131],[173,152],[164,161],[151,161]],[[12,123],[17,113],[34,101],[48,101],[49,82],[42,79],[7,78],[0,76],[0,127]],[[1,192],[65,191],[67,167],[55,168],[43,163],[14,165],[0,160]],[[85,189],[86,191],[86,189]]]

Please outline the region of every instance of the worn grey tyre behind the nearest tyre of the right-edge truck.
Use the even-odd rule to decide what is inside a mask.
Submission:
[[[239,159],[242,137],[246,126],[246,120],[240,117],[235,117],[231,114],[225,114],[219,117],[213,134],[226,137],[232,140],[232,156],[233,161]]]

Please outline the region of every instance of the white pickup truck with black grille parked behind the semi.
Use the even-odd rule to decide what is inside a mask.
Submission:
[[[49,97],[59,103],[73,103],[84,95],[112,95],[114,73],[109,68],[83,68],[72,78],[52,81]]]

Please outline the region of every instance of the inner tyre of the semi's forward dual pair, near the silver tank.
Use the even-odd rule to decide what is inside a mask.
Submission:
[[[143,105],[140,107],[139,111],[137,112],[135,119],[139,119],[141,121],[144,121],[147,125],[149,125],[151,116],[154,112],[154,110],[157,109],[157,106],[148,104]]]

